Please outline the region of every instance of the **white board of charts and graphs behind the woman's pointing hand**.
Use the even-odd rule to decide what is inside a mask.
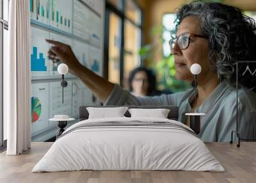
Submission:
[[[55,40],[70,45],[84,67],[102,76],[104,41],[104,0],[29,0],[31,17],[31,137],[34,141],[52,138],[54,115],[79,118],[79,107],[100,105],[92,92],[76,76],[65,75],[63,88],[58,66],[61,60],[49,60]],[[44,89],[43,89],[44,88]]]

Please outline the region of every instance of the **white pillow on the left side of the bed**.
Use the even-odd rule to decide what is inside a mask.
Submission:
[[[118,118],[125,117],[124,114],[128,107],[86,107],[89,117],[95,118]]]

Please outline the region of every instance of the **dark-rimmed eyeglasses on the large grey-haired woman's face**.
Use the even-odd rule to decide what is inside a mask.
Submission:
[[[183,33],[183,34],[177,36],[177,38],[171,38],[170,39],[169,45],[171,47],[171,52],[173,53],[173,48],[174,48],[174,45],[176,43],[179,45],[180,49],[188,48],[191,36],[207,39],[207,36],[204,36],[204,35],[196,35],[196,34],[192,34],[192,33]]]

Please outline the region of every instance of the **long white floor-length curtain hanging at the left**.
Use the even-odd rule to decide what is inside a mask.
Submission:
[[[31,77],[29,0],[11,0],[8,61],[4,63],[4,120],[8,155],[31,145]]]

